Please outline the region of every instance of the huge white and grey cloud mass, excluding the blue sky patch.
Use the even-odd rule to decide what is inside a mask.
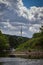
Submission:
[[[14,34],[14,30],[19,32],[21,28],[15,24],[24,25],[23,34],[28,31],[39,32],[40,24],[43,22],[43,7],[26,8],[22,0],[0,0],[0,3],[5,4],[4,8],[0,7],[0,28],[4,28],[4,32],[5,29],[9,29],[6,32],[9,34]],[[31,26],[33,23],[34,25]],[[28,34],[26,35],[28,36]]]

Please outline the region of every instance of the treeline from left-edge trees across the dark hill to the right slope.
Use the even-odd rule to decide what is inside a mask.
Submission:
[[[0,31],[0,56],[6,55],[6,53],[12,48],[16,49],[20,44],[26,42],[29,38],[21,36],[12,36],[2,34]]]

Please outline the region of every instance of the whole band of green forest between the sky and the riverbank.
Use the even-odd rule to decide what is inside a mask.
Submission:
[[[38,33],[34,33],[32,38],[12,36],[2,34],[0,31],[0,57],[7,56],[9,51],[14,48],[16,51],[35,51],[43,50],[43,26]]]

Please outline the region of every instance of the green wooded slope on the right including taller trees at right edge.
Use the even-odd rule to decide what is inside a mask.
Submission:
[[[43,51],[43,26],[39,33],[34,33],[33,37],[18,46],[17,51]]]

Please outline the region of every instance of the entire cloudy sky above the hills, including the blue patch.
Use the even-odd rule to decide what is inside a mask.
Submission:
[[[0,0],[3,34],[32,37],[43,25],[43,0]]]

